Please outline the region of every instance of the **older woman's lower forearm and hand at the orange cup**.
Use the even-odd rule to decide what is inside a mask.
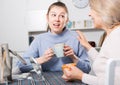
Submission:
[[[84,73],[79,68],[72,66],[70,69],[64,69],[64,75],[62,78],[65,81],[81,80],[85,84],[90,85],[104,85],[104,77],[96,77],[90,74]]]

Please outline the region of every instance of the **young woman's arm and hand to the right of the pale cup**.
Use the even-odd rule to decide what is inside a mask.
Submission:
[[[73,62],[77,64],[77,67],[82,69],[83,72],[89,73],[91,67],[86,50],[80,45],[79,42],[74,50],[76,50],[77,53],[75,53],[70,46],[65,45],[65,56],[70,57]]]

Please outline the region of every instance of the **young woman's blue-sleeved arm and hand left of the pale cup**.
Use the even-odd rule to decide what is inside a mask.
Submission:
[[[32,69],[30,57],[34,57],[38,64],[43,64],[53,57],[54,52],[52,49],[48,48],[47,50],[46,49],[44,51],[42,50],[43,48],[41,47],[42,42],[41,40],[42,40],[41,38],[35,38],[31,43],[30,47],[28,48],[28,50],[24,53],[23,57],[25,60],[27,60],[28,64],[27,65],[19,64],[19,68],[22,72],[27,72]]]

